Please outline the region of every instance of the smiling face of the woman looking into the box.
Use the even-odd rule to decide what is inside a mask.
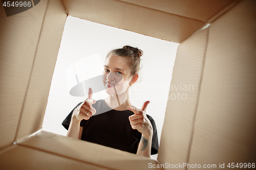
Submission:
[[[131,70],[128,62],[125,57],[113,54],[106,58],[102,80],[107,94],[121,94],[129,87]]]

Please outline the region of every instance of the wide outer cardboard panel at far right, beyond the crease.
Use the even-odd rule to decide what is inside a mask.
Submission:
[[[209,28],[189,163],[255,163],[256,2]]]

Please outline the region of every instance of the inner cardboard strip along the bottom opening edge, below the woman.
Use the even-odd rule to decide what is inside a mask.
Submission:
[[[44,131],[19,144],[110,169],[148,169],[148,163],[158,164],[144,156]]]

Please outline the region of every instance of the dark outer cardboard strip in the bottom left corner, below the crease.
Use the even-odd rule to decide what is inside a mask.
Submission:
[[[106,169],[23,146],[18,146],[1,155],[0,164],[1,169]]]

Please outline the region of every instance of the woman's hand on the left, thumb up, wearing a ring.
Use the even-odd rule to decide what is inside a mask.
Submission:
[[[80,122],[82,119],[88,120],[96,113],[96,110],[92,107],[92,104],[95,104],[95,100],[92,99],[93,89],[89,88],[88,96],[85,101],[83,101],[73,112],[72,119],[73,121]]]

